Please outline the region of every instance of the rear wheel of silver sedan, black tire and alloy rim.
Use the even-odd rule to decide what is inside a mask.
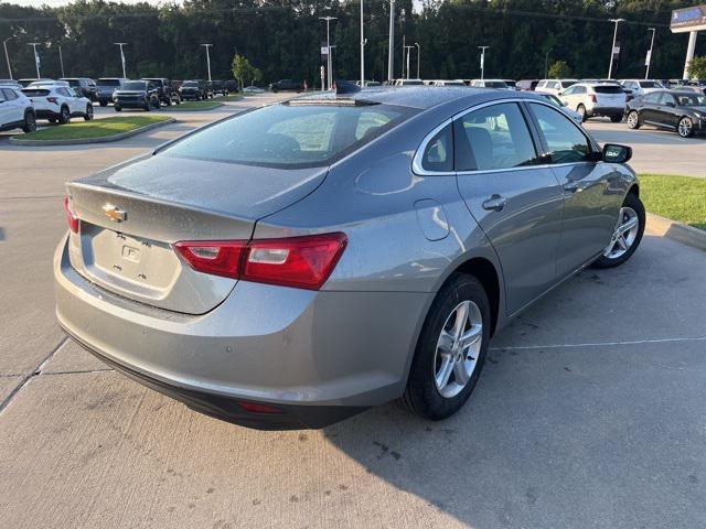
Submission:
[[[453,274],[424,323],[403,397],[416,414],[434,421],[461,409],[481,374],[490,342],[488,294],[473,276]]]

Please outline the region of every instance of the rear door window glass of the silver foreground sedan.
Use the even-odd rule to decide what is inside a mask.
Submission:
[[[520,107],[501,104],[467,114],[456,123],[457,171],[531,165],[537,153]]]

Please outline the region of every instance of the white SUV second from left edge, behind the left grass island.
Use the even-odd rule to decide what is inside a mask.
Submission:
[[[64,125],[71,118],[93,119],[92,102],[68,86],[65,82],[32,83],[22,91],[34,105],[38,119],[47,119],[51,123]]]

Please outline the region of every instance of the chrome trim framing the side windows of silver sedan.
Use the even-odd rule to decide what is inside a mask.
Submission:
[[[504,172],[509,172],[509,171],[528,171],[528,170],[534,170],[534,169],[561,168],[561,166],[568,166],[568,165],[578,165],[578,164],[581,164],[581,163],[589,163],[589,162],[586,162],[586,161],[567,162],[567,163],[543,163],[543,164],[539,164],[539,165],[523,165],[521,168],[488,169],[488,170],[475,169],[475,170],[472,170],[472,171],[430,171],[430,170],[424,169],[424,166],[421,165],[421,159],[424,158],[424,153],[427,150],[427,145],[429,144],[431,139],[441,131],[441,129],[443,129],[445,127],[451,125],[457,119],[462,118],[467,114],[474,112],[475,110],[481,110],[481,109],[486,108],[486,107],[492,107],[494,105],[502,105],[502,104],[506,104],[506,102],[517,102],[517,104],[536,102],[538,105],[544,105],[545,107],[548,107],[548,108],[553,109],[554,111],[557,111],[557,112],[564,115],[564,117],[566,117],[566,119],[574,127],[576,127],[581,132],[581,134],[584,134],[584,137],[591,144],[591,147],[593,147],[593,148],[596,147],[595,142],[591,140],[591,138],[588,134],[586,134],[586,131],[584,131],[578,125],[576,125],[576,121],[574,121],[574,119],[571,119],[570,116],[568,116],[560,108],[557,108],[556,106],[552,105],[548,101],[543,101],[543,100],[539,100],[539,99],[524,98],[524,97],[523,98],[521,98],[521,97],[512,97],[512,98],[507,98],[507,99],[494,99],[492,101],[481,102],[480,105],[475,105],[473,107],[470,107],[470,108],[467,108],[464,110],[461,110],[460,112],[454,114],[453,116],[451,116],[450,118],[443,120],[440,125],[438,125],[437,127],[431,129],[431,132],[427,133],[427,136],[424,137],[424,139],[421,140],[421,143],[417,148],[417,152],[415,152],[415,156],[414,156],[414,159],[411,161],[411,171],[418,176],[453,176],[456,174],[458,174],[458,175],[467,175],[467,174],[479,174],[479,173],[482,173],[482,174],[504,173]],[[454,141],[454,143],[456,143],[456,141]],[[454,151],[456,151],[456,147],[454,147]],[[546,153],[543,153],[543,154],[546,154]],[[454,152],[454,156],[456,156],[456,152]]]

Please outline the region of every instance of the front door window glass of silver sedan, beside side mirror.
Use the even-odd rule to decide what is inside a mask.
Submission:
[[[553,163],[582,162],[591,152],[586,136],[564,114],[545,105],[530,104],[549,149]]]

